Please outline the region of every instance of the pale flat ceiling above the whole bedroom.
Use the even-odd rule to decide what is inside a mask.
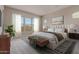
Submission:
[[[52,13],[66,7],[68,5],[8,5],[8,7],[20,9],[22,11],[30,12],[39,16]]]

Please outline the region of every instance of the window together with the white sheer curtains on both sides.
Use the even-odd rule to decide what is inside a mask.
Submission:
[[[20,14],[12,14],[13,25],[16,33],[25,33],[29,31],[39,31],[39,19],[38,17],[28,18]]]

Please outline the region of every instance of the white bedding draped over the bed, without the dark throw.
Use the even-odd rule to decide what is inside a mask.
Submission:
[[[60,45],[62,42],[65,41],[65,39],[63,39],[59,42],[57,37],[54,34],[45,33],[45,32],[35,32],[32,34],[32,36],[34,36],[34,35],[47,38],[49,40],[49,44],[47,47],[50,49],[55,49],[58,45]],[[63,34],[63,36],[65,36],[65,35]]]

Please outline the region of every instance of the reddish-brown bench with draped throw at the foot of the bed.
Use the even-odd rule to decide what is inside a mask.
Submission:
[[[40,47],[44,47],[49,43],[49,41],[43,37],[29,36],[28,39],[32,45],[37,45]]]

